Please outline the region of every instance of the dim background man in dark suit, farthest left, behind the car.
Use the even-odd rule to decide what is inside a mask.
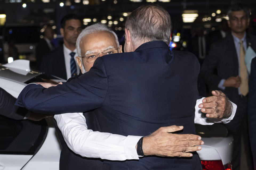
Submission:
[[[37,58],[37,69],[40,70],[40,65],[42,63],[42,58],[45,54],[50,53],[52,50],[54,50],[55,46],[51,42],[53,39],[54,31],[50,26],[47,26],[45,28],[44,37],[39,40],[39,43],[37,45],[36,49],[36,58]]]

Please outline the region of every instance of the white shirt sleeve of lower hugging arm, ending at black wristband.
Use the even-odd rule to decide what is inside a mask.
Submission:
[[[87,129],[83,113],[54,116],[67,146],[84,157],[107,160],[139,159],[135,146],[142,136],[122,136]]]

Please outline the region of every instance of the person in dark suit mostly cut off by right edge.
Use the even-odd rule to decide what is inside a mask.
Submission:
[[[248,128],[253,155],[254,169],[256,169],[256,58],[251,61],[251,74],[249,81],[249,100],[248,100]]]

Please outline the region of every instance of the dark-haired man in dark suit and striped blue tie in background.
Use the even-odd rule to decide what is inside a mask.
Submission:
[[[43,56],[41,71],[52,74],[65,80],[80,73],[75,61],[77,51],[75,42],[82,30],[82,21],[75,14],[65,15],[61,20],[61,35],[64,44],[51,53]]]

